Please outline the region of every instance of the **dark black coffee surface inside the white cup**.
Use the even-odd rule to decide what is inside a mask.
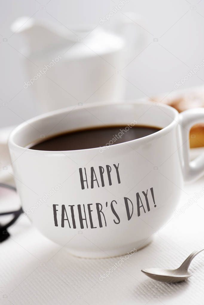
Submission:
[[[151,135],[160,128],[151,126],[107,126],[67,132],[31,145],[30,149],[63,151],[119,144]]]

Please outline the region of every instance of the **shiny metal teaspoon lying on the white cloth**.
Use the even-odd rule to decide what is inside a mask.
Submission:
[[[146,274],[148,277],[160,282],[176,283],[185,281],[191,276],[191,274],[188,272],[188,267],[191,264],[191,260],[203,250],[204,248],[191,253],[187,259],[184,260],[183,264],[181,264],[177,269],[148,268],[142,269],[141,271],[144,272],[144,274]]]

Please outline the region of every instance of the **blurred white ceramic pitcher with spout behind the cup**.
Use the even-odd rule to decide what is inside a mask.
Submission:
[[[125,29],[129,24],[135,35],[128,30],[128,42]],[[72,31],[57,23],[17,19],[12,30],[24,34],[27,44],[22,50],[27,57],[27,79],[22,86],[33,89],[42,113],[85,102],[118,101],[124,93],[124,58],[131,60],[137,54],[133,42],[141,35],[138,28],[128,18],[112,32],[100,24],[94,30]]]

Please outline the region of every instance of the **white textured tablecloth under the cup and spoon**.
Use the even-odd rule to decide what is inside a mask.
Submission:
[[[73,257],[21,215],[9,229],[11,237],[0,244],[0,304],[203,304],[204,252],[192,261],[192,277],[186,282],[160,283],[140,271],[178,267],[204,245],[203,187],[204,178],[185,186],[177,210],[155,232],[154,241],[126,260]],[[17,201],[15,196],[1,198],[1,211]],[[100,281],[115,263],[120,266]]]

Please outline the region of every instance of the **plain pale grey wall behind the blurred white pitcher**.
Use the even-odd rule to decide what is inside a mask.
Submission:
[[[10,30],[11,23],[20,16],[35,17],[73,27],[78,24],[94,28],[100,17],[108,14],[118,0],[1,0],[0,9],[0,127],[18,124],[39,113],[38,101],[30,89],[23,88],[27,77],[22,53],[25,41]],[[42,5],[45,9],[42,9]],[[115,14],[104,28],[111,28],[119,14],[135,12],[139,24],[133,23],[144,36],[124,69],[127,80],[126,98],[155,96],[173,90],[174,82],[188,74],[204,59],[204,0],[130,0],[121,13]],[[127,18],[122,15],[123,18]],[[68,33],[67,29],[67,33]],[[3,39],[6,38],[6,39]],[[158,41],[154,41],[158,38]],[[134,37],[133,37],[134,39]],[[5,41],[6,40],[6,41]],[[30,63],[32,64],[32,63]],[[122,73],[123,73],[122,72]],[[202,85],[204,68],[184,86]],[[179,88],[179,89],[180,89]],[[177,89],[177,90],[179,90]],[[3,106],[8,102],[8,106]]]

